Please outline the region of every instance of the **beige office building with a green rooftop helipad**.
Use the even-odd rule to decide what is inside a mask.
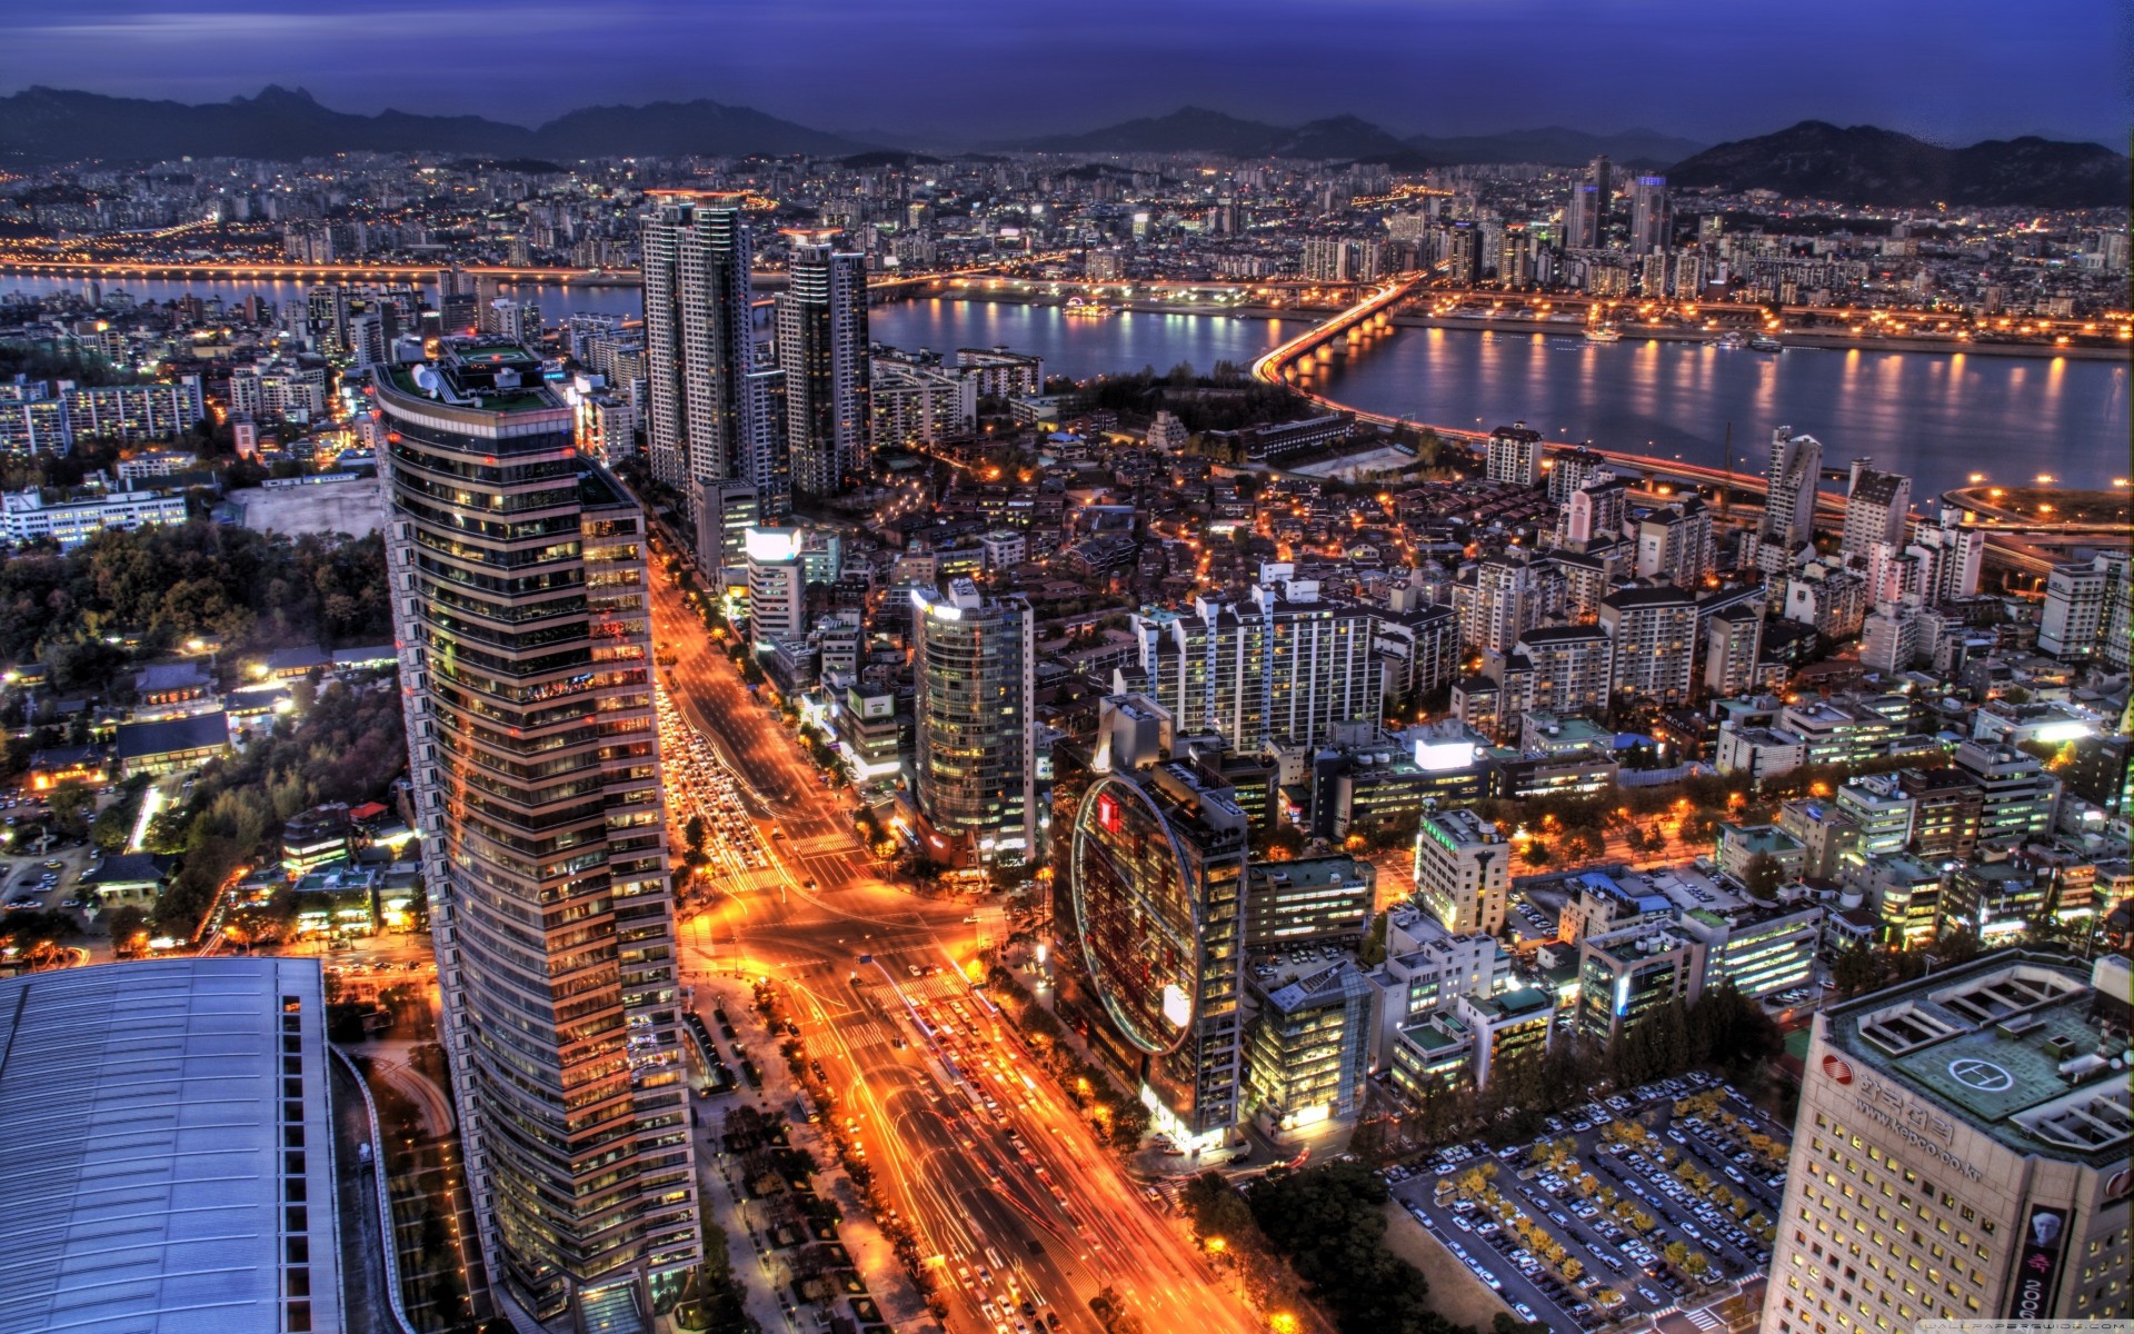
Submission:
[[[1816,1014],[1763,1334],[2119,1319],[2128,963],[2000,952]]]

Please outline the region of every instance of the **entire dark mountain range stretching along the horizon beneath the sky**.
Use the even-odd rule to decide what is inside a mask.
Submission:
[[[186,105],[94,92],[28,88],[0,96],[0,164],[87,158],[318,158],[337,152],[446,152],[476,158],[598,156],[862,156],[903,147],[873,137],[815,130],[751,107],[713,100],[644,107],[580,107],[542,126],[480,115],[356,115],[322,107],[309,92],[269,85],[252,98]],[[1775,134],[1703,147],[1656,130],[1590,134],[1545,126],[1502,134],[1400,137],[1355,115],[1302,126],[1180,107],[1084,130],[986,145],[1054,154],[1223,154],[1385,162],[1398,171],[1472,162],[1577,166],[1607,154],[1624,166],[1665,169],[1675,186],[1769,188],[1788,196],[1921,207],[2113,207],[2128,198],[2128,158],[2096,143],[1991,139],[1940,147],[1876,126],[1801,122]]]

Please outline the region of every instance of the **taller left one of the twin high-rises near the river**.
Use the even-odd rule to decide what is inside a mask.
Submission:
[[[787,506],[783,374],[755,361],[740,196],[653,192],[640,239],[653,476],[681,489],[740,478],[775,523]]]

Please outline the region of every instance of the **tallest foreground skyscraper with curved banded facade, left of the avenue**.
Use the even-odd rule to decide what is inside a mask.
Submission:
[[[508,344],[373,382],[444,1048],[491,1285],[664,1308],[700,1259],[644,514]],[[576,1325],[576,1328],[583,1328]]]

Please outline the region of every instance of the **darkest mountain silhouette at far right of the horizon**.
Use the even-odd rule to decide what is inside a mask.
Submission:
[[[1895,207],[2106,209],[2125,207],[2128,169],[2123,154],[2098,143],[2023,137],[1940,147],[1897,130],[1803,120],[1707,147],[1669,166],[1667,181]]]

